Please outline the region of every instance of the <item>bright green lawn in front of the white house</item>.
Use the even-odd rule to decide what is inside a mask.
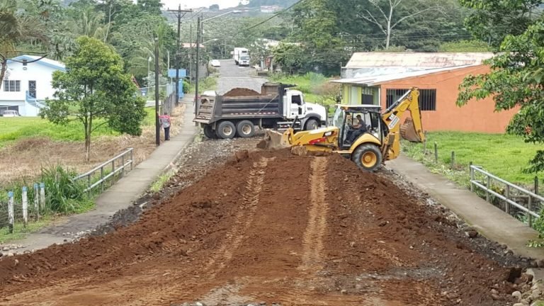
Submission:
[[[96,124],[100,124],[100,120]],[[96,125],[95,125],[96,126]],[[93,136],[118,135],[106,125],[93,132]],[[55,125],[39,117],[0,117],[0,147],[28,137],[49,137],[52,140],[83,141],[83,125],[72,121],[67,125]]]

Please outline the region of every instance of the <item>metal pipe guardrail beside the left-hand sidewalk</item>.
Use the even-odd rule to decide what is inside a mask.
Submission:
[[[125,159],[125,157],[128,157]],[[115,162],[118,162],[120,160],[120,164],[118,166],[115,166]],[[111,178],[112,176],[115,176],[115,174],[118,174],[120,172],[121,177],[125,175],[125,168],[130,166],[130,170],[132,170],[134,165],[134,148],[130,147],[126,149],[124,152],[118,154],[116,157],[113,157],[112,159],[109,159],[107,162],[104,162],[101,165],[96,166],[94,169],[91,169],[84,174],[80,174],[79,176],[76,176],[74,178],[74,181],[78,181],[80,179],[87,179],[87,188],[85,189],[86,192],[91,194],[91,190],[96,188],[96,186],[100,185],[102,188],[102,191],[104,191],[104,182]],[[110,168],[111,166],[111,172],[104,175],[104,169]],[[109,169],[107,169],[109,170]],[[96,174],[97,171],[100,171],[100,179],[98,181],[91,183],[91,179]]]

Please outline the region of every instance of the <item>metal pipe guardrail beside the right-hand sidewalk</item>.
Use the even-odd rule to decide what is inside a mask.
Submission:
[[[483,174],[485,176],[485,182],[476,180],[475,179],[476,173]],[[503,183],[505,185],[504,196],[501,193],[497,193],[497,191],[492,190],[491,186],[494,181]],[[496,196],[497,198],[501,200],[504,200],[504,202],[506,203],[506,206],[505,206],[506,213],[510,212],[510,205],[513,205],[514,207],[518,208],[519,210],[522,210],[523,212],[526,212],[528,214],[528,224],[530,227],[533,226],[533,217],[540,218],[540,215],[538,215],[538,213],[533,211],[533,204],[535,200],[539,200],[540,203],[544,203],[544,197],[539,196],[538,194],[533,193],[531,191],[528,191],[525,188],[514,185],[513,183],[510,183],[509,181],[505,181],[504,179],[501,179],[498,176],[494,176],[493,174],[490,174],[489,172],[482,169],[481,166],[475,166],[471,164],[470,165],[470,191],[474,192],[475,186],[485,191],[485,200],[487,202],[490,202],[491,195]],[[514,200],[511,200],[512,188],[528,196],[528,205],[527,205],[528,207],[525,207],[519,203],[516,203]]]

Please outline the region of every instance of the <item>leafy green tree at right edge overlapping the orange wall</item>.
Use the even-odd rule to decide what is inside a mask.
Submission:
[[[526,142],[544,143],[544,22],[537,21],[521,35],[508,35],[500,53],[487,61],[492,71],[470,75],[460,85],[458,106],[493,96],[495,109],[520,107],[507,132]],[[538,150],[528,172],[544,170],[544,150]]]

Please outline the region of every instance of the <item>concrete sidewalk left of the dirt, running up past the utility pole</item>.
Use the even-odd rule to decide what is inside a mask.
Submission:
[[[17,253],[42,249],[51,244],[62,244],[64,239],[69,239],[65,233],[75,234],[95,229],[98,225],[108,222],[109,218],[118,210],[130,207],[132,201],[143,195],[157,179],[179,158],[181,151],[193,142],[197,128],[193,123],[194,106],[193,97],[185,96],[183,114],[183,126],[181,132],[171,137],[168,142],[161,145],[144,161],[135,166],[122,179],[96,199],[96,208],[80,215],[72,215],[62,222],[40,229],[40,231],[28,235],[26,239],[10,242],[9,244],[21,244],[22,249],[16,249]],[[164,135],[164,130],[161,131]],[[70,239],[69,239],[70,240]]]

